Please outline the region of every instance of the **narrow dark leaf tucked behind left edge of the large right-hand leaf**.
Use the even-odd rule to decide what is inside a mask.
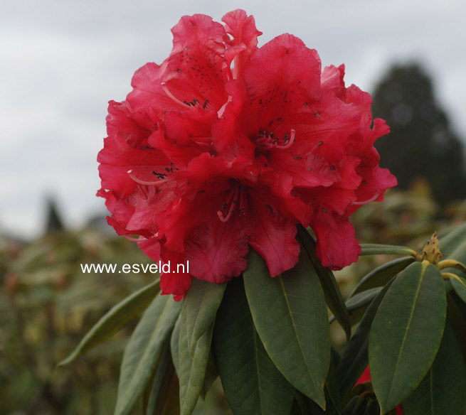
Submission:
[[[382,291],[378,293],[378,296],[372,300],[356,332],[343,349],[341,359],[337,366],[337,378],[340,379],[340,390],[343,397],[351,390],[354,384],[356,384],[368,365],[369,331],[371,330],[378,306],[380,306],[392,282],[393,281],[389,281],[388,284],[383,287]]]

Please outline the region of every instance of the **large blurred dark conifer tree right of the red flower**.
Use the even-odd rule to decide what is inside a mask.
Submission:
[[[400,188],[423,176],[438,203],[466,198],[462,141],[452,131],[420,65],[393,66],[376,87],[373,111],[391,127],[388,136],[376,141],[376,149]]]

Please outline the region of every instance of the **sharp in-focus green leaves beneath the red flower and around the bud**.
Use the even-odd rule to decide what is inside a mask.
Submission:
[[[412,260],[362,279],[351,307],[352,297],[345,306],[337,291],[327,292],[329,304],[339,303],[337,310],[369,306],[341,357],[332,352],[326,285],[312,261],[315,244],[306,232],[300,228],[297,237],[297,265],[274,279],[251,250],[243,276],[219,286],[201,281],[188,291],[183,306],[154,296],[125,350],[115,414],[131,414],[139,399],[143,405],[149,399],[190,415],[211,378],[219,375],[233,414],[389,414],[406,405],[413,415],[426,410],[440,415],[445,409],[462,415],[466,223],[444,235],[440,245],[435,233],[419,253],[362,246],[362,255],[408,255]],[[450,253],[446,259],[440,249]],[[396,271],[387,273],[393,266]],[[361,288],[369,280],[376,280],[376,286]],[[460,308],[457,316],[448,313],[449,298]],[[448,365],[448,355],[455,365]],[[151,387],[151,379],[160,384],[168,376],[172,382],[166,362],[172,362],[179,379],[179,396]],[[368,364],[372,379],[361,391],[356,381]],[[450,373],[455,381],[445,388]],[[169,413],[153,408],[146,414]]]

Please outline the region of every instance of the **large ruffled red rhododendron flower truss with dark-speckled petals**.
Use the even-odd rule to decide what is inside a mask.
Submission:
[[[192,276],[240,275],[249,247],[271,276],[292,268],[299,223],[322,264],[341,269],[360,251],[349,215],[396,185],[374,149],[388,127],[368,94],[344,86],[342,66],[322,72],[317,52],[287,34],[258,48],[242,10],[222,21],[181,18],[169,58],[110,102],[97,158],[110,225],[139,235],[156,261],[189,262],[189,274],[161,276],[175,298]]]

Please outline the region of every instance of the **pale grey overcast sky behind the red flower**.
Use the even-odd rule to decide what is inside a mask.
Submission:
[[[166,58],[182,15],[237,8],[255,16],[260,45],[292,33],[369,92],[392,63],[419,60],[465,138],[465,1],[0,1],[0,231],[38,235],[47,194],[73,227],[105,212],[95,158],[107,101]]]

